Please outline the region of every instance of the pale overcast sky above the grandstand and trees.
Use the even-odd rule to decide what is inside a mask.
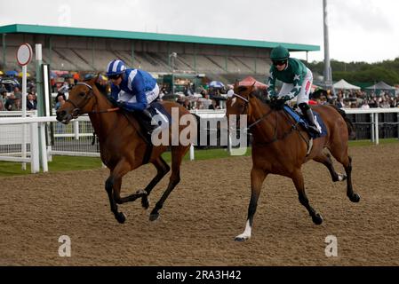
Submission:
[[[331,59],[399,57],[399,1],[327,3]],[[16,23],[315,44],[308,59],[324,56],[323,0],[0,0],[0,26]]]

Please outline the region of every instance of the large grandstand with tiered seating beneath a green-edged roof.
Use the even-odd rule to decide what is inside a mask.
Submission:
[[[153,74],[203,74],[212,80],[234,81],[252,75],[264,81],[270,50],[283,44],[291,51],[319,51],[316,45],[178,36],[88,28],[36,25],[0,27],[0,69],[19,70],[15,54],[21,43],[42,43],[44,63],[52,70],[103,71],[111,59]],[[171,58],[172,52],[177,53]],[[28,72],[35,74],[35,66]]]

